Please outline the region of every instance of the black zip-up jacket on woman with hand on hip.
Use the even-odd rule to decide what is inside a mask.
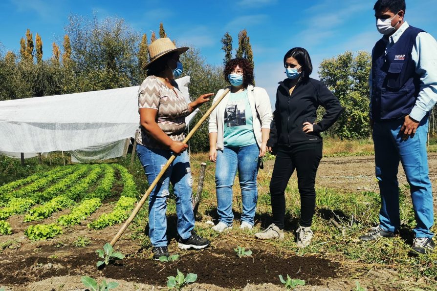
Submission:
[[[279,82],[276,91],[275,112],[273,112],[267,146],[292,146],[322,142],[320,132],[333,125],[343,111],[337,97],[329,91],[324,83],[311,78],[306,82],[299,82],[290,96],[285,82],[287,79]],[[316,111],[319,105],[326,109],[326,114],[320,122],[313,125],[313,132],[305,133],[303,124],[316,121]]]

